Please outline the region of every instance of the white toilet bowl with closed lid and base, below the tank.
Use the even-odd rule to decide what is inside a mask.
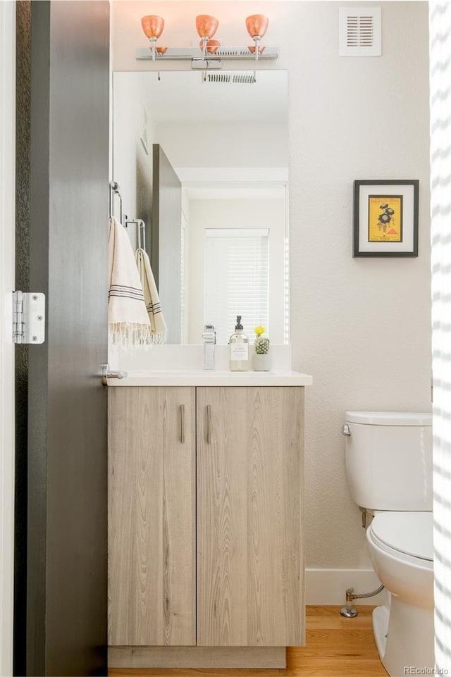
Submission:
[[[373,633],[390,676],[434,667],[431,512],[377,514],[366,530],[373,569],[390,600],[373,611]]]

